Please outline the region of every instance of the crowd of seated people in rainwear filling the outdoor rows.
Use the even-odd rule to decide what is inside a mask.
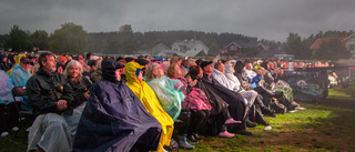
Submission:
[[[36,116],[28,151],[193,150],[201,135],[253,135],[264,116],[303,109],[277,90],[277,61],[84,57],[0,54],[1,136],[18,130],[20,107]],[[20,104],[13,87],[28,92]]]

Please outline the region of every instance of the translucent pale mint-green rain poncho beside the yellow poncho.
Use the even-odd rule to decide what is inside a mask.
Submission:
[[[163,110],[175,121],[181,112],[181,102],[185,99],[181,89],[184,89],[180,80],[162,77],[146,82],[154,91]]]

